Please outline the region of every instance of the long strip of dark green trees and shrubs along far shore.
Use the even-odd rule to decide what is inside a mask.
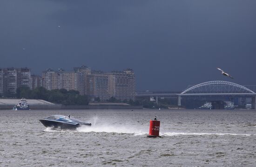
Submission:
[[[45,87],[37,87],[30,89],[29,87],[18,87],[16,94],[6,93],[4,98],[7,99],[41,99],[46,100],[56,105],[63,106],[137,106],[141,108],[177,108],[176,101],[159,100],[159,105],[156,105],[155,101],[150,101],[148,98],[138,98],[134,100],[116,100],[115,97],[111,97],[107,101],[101,101],[99,97],[94,98],[94,101],[90,101],[87,95],[80,95],[78,91],[66,90],[66,89],[54,89],[47,90]]]

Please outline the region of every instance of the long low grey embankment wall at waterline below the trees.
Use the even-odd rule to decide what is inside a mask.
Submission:
[[[30,105],[31,110],[60,110],[60,109],[142,109],[142,106],[118,106],[118,105],[100,105],[100,106],[64,106],[64,105]],[[0,105],[0,110],[11,110],[13,105]]]

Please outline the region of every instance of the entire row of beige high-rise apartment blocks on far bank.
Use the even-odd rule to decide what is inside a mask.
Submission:
[[[90,67],[74,67],[73,71],[59,68],[54,71],[47,68],[42,74],[31,75],[31,70],[24,68],[0,68],[0,94],[9,97],[15,95],[19,87],[45,87],[47,90],[75,90],[80,95],[87,95],[91,100],[98,98],[107,101],[135,100],[135,73],[127,68],[123,71],[103,72]]]

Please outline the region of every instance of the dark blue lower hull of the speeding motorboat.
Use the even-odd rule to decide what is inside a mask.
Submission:
[[[45,126],[45,127],[51,127],[51,128],[61,128],[61,129],[73,129],[75,130],[77,127],[80,127],[81,125],[86,125],[86,126],[91,126],[90,123],[67,123],[67,122],[61,122],[61,121],[55,121],[55,120],[46,120],[46,119],[41,119],[40,122]]]

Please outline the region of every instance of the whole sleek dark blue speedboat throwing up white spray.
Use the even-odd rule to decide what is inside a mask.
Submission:
[[[61,129],[75,129],[77,127],[81,127],[82,125],[91,126],[91,123],[82,122],[74,118],[71,115],[51,115],[45,119],[40,119],[40,122],[45,127],[51,128],[61,128]]]

